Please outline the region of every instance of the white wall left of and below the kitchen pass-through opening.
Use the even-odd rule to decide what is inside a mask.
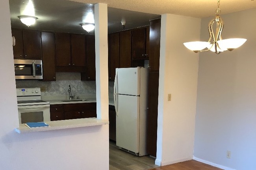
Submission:
[[[19,120],[8,0],[0,1],[0,15],[0,169],[108,170],[108,125],[27,134],[14,131]]]

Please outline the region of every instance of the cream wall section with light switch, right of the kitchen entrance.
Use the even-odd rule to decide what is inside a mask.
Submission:
[[[193,159],[199,54],[183,43],[200,38],[200,21],[161,16],[157,165]]]

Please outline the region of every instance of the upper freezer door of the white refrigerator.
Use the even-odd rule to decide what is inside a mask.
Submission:
[[[140,68],[117,68],[115,93],[140,95]]]

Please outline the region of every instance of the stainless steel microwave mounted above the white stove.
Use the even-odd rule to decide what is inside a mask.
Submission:
[[[42,60],[14,60],[15,79],[43,79]]]

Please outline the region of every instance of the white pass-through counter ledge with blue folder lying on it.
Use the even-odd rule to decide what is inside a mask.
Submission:
[[[69,129],[69,128],[80,128],[87,126],[98,126],[103,124],[109,124],[108,120],[101,120],[97,118],[84,118],[84,119],[70,119],[63,121],[49,121],[45,122],[48,127],[42,128],[28,128],[25,124],[20,124],[19,128],[15,131],[18,133],[29,133],[29,132],[41,132],[49,130]]]

